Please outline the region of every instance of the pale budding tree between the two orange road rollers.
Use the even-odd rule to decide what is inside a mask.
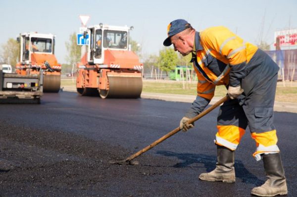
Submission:
[[[76,33],[69,35],[69,41],[65,43],[68,54],[66,55],[66,61],[72,65],[77,63],[81,59],[81,46],[78,46],[76,41]]]

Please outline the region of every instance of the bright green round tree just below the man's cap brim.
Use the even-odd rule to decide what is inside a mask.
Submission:
[[[167,74],[169,71],[174,70],[178,63],[178,55],[172,48],[164,48],[159,51],[159,65],[160,69]]]

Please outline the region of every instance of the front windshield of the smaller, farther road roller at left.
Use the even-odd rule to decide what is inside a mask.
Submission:
[[[49,38],[31,38],[31,51],[33,52],[50,52],[51,39]]]

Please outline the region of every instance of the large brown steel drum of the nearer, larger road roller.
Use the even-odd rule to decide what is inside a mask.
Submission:
[[[140,98],[142,77],[108,76],[109,90],[99,90],[100,97],[105,98]]]

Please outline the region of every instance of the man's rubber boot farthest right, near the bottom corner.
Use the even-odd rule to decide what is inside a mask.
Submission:
[[[268,180],[262,186],[253,188],[251,194],[259,197],[287,195],[288,189],[281,154],[264,154],[262,158]]]

